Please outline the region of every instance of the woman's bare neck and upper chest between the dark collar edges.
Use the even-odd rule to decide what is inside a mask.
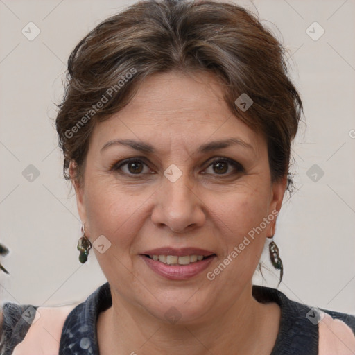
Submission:
[[[224,305],[223,305],[224,306]],[[248,285],[230,309],[211,309],[193,324],[169,324],[112,295],[112,307],[98,318],[100,354],[270,354],[280,309],[261,304]],[[119,349],[119,350],[117,350]]]

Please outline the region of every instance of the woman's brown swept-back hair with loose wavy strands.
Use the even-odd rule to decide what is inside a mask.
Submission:
[[[291,141],[302,101],[288,78],[284,47],[257,17],[232,3],[146,0],[98,24],[68,60],[56,128],[75,179],[83,178],[95,122],[121,110],[154,73],[209,71],[223,84],[227,105],[268,142],[272,182],[288,175]],[[235,103],[252,98],[248,111]],[[100,104],[101,103],[101,104]]]

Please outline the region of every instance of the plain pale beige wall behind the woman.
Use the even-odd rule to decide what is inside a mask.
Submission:
[[[284,262],[279,289],[355,314],[354,0],[236,2],[257,8],[283,38],[304,101],[307,127],[300,125],[293,145],[296,190],[285,196],[275,234]],[[106,282],[94,252],[84,265],[78,261],[80,220],[62,178],[54,103],[73,47],[132,3],[0,0],[0,242],[10,249],[1,258],[10,271],[0,275],[1,304],[69,304]],[[34,40],[21,33],[29,22],[40,31]],[[31,164],[40,175],[28,181]],[[262,259],[271,271],[264,269],[267,281],[258,273],[254,281],[276,287],[267,250]]]

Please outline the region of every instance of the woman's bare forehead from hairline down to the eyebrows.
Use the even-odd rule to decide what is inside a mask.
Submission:
[[[239,137],[256,151],[262,144],[261,137],[230,111],[216,77],[205,72],[148,76],[128,105],[96,124],[93,136],[101,146],[118,138],[189,146]]]

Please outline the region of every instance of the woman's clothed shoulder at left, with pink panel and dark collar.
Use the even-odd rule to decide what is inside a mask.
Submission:
[[[92,349],[97,349],[96,318],[111,304],[108,282],[84,302],[68,306],[4,304],[0,355],[42,354],[43,350],[49,354],[74,354],[71,350],[80,347],[83,337],[92,342]]]

